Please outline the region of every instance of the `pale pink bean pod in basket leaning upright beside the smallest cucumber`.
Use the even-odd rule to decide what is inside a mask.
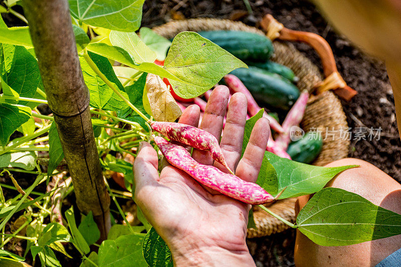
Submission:
[[[286,150],[291,142],[290,129],[292,126],[298,126],[305,113],[306,103],[308,102],[309,93],[307,90],[302,91],[294,106],[290,109],[283,121],[284,132],[280,133],[276,138],[276,143],[282,149]]]

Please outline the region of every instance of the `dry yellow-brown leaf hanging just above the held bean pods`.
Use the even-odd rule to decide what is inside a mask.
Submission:
[[[155,120],[173,122],[181,116],[181,110],[163,80],[154,75],[146,77],[146,91]]]

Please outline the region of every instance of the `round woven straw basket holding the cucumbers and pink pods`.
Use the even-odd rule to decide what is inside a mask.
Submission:
[[[174,21],[153,28],[157,34],[166,38],[173,38],[183,31],[213,31],[213,30],[235,30],[247,31],[260,35],[264,32],[249,27],[241,22],[218,19],[190,19]],[[318,68],[306,57],[297,51],[291,44],[274,41],[274,56],[272,60],[292,69],[299,77],[297,86],[300,90],[313,91],[316,84],[322,81]],[[304,119],[301,127],[308,131],[311,128],[323,128],[334,130],[335,135],[325,139],[325,131],[322,131],[323,147],[319,156],[312,163],[322,166],[334,160],[344,158],[348,154],[349,141],[340,138],[340,128],[347,128],[345,114],[338,98],[331,92],[326,91],[318,96],[312,96],[308,101]],[[333,131],[333,132],[334,132]],[[269,208],[288,221],[295,221],[294,204],[296,198],[288,198],[275,202]],[[256,229],[248,229],[248,237],[259,237],[281,232],[288,228],[286,224],[259,208],[254,208]]]

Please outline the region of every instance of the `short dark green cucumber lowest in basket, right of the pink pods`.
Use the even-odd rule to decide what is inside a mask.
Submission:
[[[287,153],[294,161],[311,163],[322,150],[323,141],[317,132],[307,132],[298,141],[288,145]]]

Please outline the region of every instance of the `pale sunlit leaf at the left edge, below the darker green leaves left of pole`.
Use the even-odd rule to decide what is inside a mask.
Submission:
[[[0,155],[0,168],[35,169],[36,154],[34,151],[18,151]]]

